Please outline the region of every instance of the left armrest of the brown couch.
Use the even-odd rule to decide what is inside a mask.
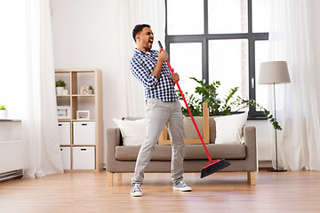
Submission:
[[[107,128],[107,165],[106,171],[116,171],[116,146],[120,145],[121,135],[119,128]]]

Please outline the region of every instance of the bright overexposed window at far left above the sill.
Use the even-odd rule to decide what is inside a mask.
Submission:
[[[10,118],[21,118],[22,83],[26,66],[23,1],[0,1],[0,105]]]

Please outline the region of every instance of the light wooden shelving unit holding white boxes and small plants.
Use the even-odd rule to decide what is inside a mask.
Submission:
[[[57,95],[64,170],[103,170],[100,69],[56,69],[55,79],[65,81],[68,90],[68,94]],[[92,94],[89,94],[90,86]]]

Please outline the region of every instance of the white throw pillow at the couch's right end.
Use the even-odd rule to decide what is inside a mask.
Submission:
[[[231,114],[214,118],[216,124],[215,144],[241,144],[244,142],[243,127],[248,112]]]

